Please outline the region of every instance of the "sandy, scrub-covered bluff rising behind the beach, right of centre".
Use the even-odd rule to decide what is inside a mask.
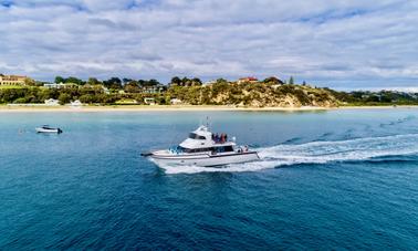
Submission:
[[[336,106],[337,101],[325,90],[301,85],[276,85],[274,82],[228,83],[218,80],[209,86],[171,86],[167,96],[191,105]]]

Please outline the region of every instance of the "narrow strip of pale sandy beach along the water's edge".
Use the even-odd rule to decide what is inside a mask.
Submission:
[[[334,111],[334,109],[388,109],[388,108],[418,108],[418,105],[399,105],[399,106],[339,106],[339,107],[236,107],[236,106],[217,106],[217,105],[114,105],[114,106],[9,106],[0,105],[0,113],[14,112],[72,112],[72,113],[92,113],[92,112],[315,112],[315,111]]]

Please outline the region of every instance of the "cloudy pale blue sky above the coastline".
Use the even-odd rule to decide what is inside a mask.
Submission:
[[[0,73],[418,90],[418,1],[0,0]]]

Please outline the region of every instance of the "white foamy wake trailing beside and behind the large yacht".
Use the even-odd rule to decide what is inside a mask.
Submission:
[[[302,164],[378,160],[387,157],[418,155],[418,134],[278,145],[257,150],[260,156],[259,161],[233,164],[221,168],[159,166],[166,170],[166,174],[196,174],[259,171]]]

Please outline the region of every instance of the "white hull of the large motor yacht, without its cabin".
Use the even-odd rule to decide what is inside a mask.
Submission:
[[[226,153],[226,154],[200,154],[200,155],[157,155],[149,156],[158,165],[181,165],[181,166],[201,166],[213,167],[229,164],[240,164],[259,160],[257,151],[248,153]]]

